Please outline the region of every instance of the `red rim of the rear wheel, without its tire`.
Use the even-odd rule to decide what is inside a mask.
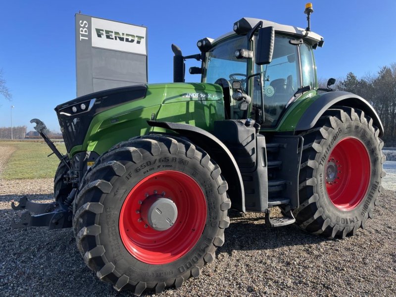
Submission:
[[[370,181],[370,157],[361,141],[341,140],[327,160],[326,190],[338,209],[352,210],[365,196]]]

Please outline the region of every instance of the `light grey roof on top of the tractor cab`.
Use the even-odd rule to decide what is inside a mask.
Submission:
[[[310,43],[311,45],[314,45],[314,44],[320,42],[321,40],[323,40],[323,37],[320,36],[319,34],[316,34],[316,33],[312,32],[312,31],[306,32],[305,29],[298,28],[298,27],[295,27],[295,26],[282,25],[282,24],[278,24],[278,23],[275,23],[275,22],[262,20],[262,19],[257,19],[257,18],[251,18],[251,17],[244,17],[241,20],[245,20],[247,23],[250,24],[250,26],[252,28],[259,21],[262,21],[263,22],[263,28],[272,26],[272,27],[274,27],[275,33],[277,33],[277,34],[282,34],[283,33],[283,34],[287,34],[287,35],[294,35],[297,38],[303,38],[306,42]],[[231,35],[234,35],[234,34],[236,34],[234,31],[229,32],[227,34],[224,34],[224,35],[216,38],[212,42],[212,44],[214,44],[214,43],[216,43],[216,42],[218,42],[218,41],[220,41],[220,40],[222,40],[224,38],[227,38],[227,37],[229,37]],[[307,35],[305,36],[305,34],[307,34]]]

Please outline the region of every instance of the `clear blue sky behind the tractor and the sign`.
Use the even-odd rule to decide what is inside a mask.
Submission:
[[[53,108],[76,97],[74,14],[148,27],[148,82],[171,82],[171,44],[184,55],[198,53],[203,37],[232,31],[241,17],[306,27],[303,0],[245,1],[2,1],[0,68],[13,99],[0,97],[0,127],[27,125],[42,119],[59,131]],[[315,52],[318,76],[358,77],[375,74],[396,62],[395,0],[313,0],[312,31],[322,35],[324,47]],[[188,62],[187,67],[197,65]],[[188,69],[188,68],[187,68]],[[197,76],[186,76],[197,81]]]

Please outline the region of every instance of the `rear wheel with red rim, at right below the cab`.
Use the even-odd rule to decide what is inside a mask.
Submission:
[[[365,228],[385,176],[379,130],[364,112],[329,109],[314,128],[302,133],[299,172],[299,227],[313,234],[345,238]]]

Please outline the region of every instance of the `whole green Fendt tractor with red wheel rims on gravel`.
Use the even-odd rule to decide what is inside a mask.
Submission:
[[[306,29],[242,18],[199,40],[198,54],[172,45],[174,83],[56,106],[65,156],[33,119],[61,160],[55,202],[22,198],[13,227],[72,227],[98,278],[135,295],[198,277],[224,244],[230,208],[330,238],[364,228],[383,190],[383,126],[334,79],[318,88],[312,11]],[[201,61],[190,68],[201,83],[184,82],[188,58]]]

